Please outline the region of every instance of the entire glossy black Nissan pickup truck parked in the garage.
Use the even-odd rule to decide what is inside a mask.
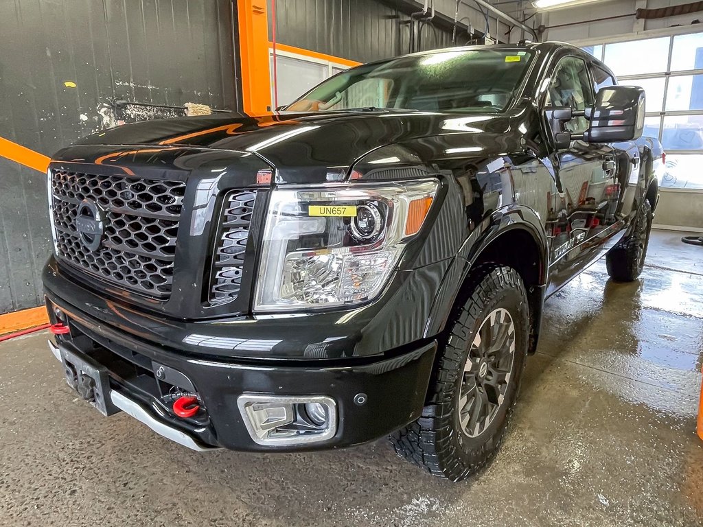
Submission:
[[[544,301],[643,267],[644,93],[567,44],[361,65],[280,112],[121,126],[51,161],[68,384],[195,450],[390,434],[463,479],[501,443]]]

